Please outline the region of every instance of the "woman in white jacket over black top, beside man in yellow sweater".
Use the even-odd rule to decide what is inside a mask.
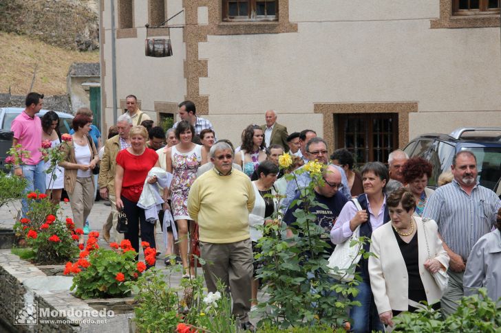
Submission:
[[[271,216],[275,211],[277,211],[278,199],[268,198],[266,194],[271,194],[277,196],[277,190],[273,184],[277,180],[277,174],[279,168],[277,165],[270,161],[264,161],[257,167],[257,174],[259,179],[253,181],[253,187],[255,192],[255,203],[253,211],[248,216],[248,224],[250,227],[251,240],[253,244],[253,252],[256,253],[259,249],[256,249],[257,241],[263,237],[262,228],[258,226],[263,226],[265,223],[273,222]],[[254,275],[256,275],[257,262],[254,262]],[[251,304],[253,307],[257,306],[257,288],[259,287],[259,282],[254,279],[252,282],[252,299]],[[253,310],[253,308],[251,308]]]

